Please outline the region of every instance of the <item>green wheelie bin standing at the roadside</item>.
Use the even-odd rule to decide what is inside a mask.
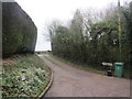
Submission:
[[[114,63],[114,73],[117,77],[122,77],[123,75],[123,63]]]

